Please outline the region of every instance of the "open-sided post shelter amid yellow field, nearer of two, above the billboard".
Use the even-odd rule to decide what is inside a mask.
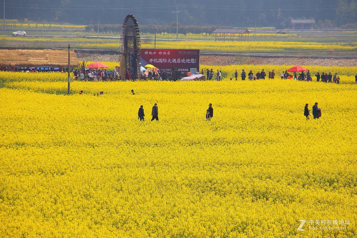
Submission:
[[[215,34],[215,41],[249,41],[249,34],[252,32],[247,28],[217,28],[212,33]],[[247,34],[248,37],[243,38],[243,34]]]

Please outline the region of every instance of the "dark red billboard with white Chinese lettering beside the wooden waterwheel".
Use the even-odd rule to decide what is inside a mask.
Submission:
[[[200,50],[141,49],[141,58],[160,72],[177,68],[184,76],[187,72],[196,74],[200,69]]]

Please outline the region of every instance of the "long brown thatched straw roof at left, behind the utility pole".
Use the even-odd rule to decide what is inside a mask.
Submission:
[[[71,68],[79,67],[71,50]],[[68,67],[68,50],[0,49],[0,67]]]

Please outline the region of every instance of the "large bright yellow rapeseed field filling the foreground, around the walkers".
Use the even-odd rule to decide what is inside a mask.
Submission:
[[[0,237],[356,237],[352,81],[66,79],[0,72]]]

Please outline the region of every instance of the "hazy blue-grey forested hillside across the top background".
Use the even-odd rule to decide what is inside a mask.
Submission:
[[[273,26],[289,27],[289,18],[315,19],[324,27],[355,27],[357,0],[17,0],[5,1],[6,19],[29,19],[36,22],[67,22],[77,25],[121,25],[126,15],[135,15],[139,24],[170,26],[176,21],[182,26]],[[177,2],[178,3],[178,2]],[[178,10],[178,13],[176,11]],[[1,7],[0,15],[4,8]],[[327,22],[326,22],[327,23]],[[322,25],[322,24],[320,24]],[[104,27],[104,26],[103,26]],[[181,27],[181,32],[185,32]],[[150,27],[149,27],[150,28]],[[167,31],[171,31],[171,26]],[[150,28],[151,29],[151,28]],[[203,28],[202,28],[203,29]],[[207,31],[191,27],[190,31]],[[102,29],[102,31],[115,29]],[[172,32],[172,31],[171,31]]]

